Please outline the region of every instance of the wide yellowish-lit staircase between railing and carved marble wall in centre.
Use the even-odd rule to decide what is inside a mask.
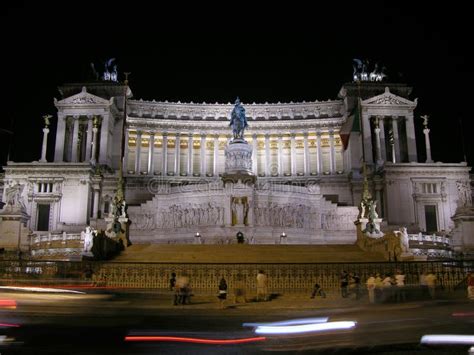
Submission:
[[[116,262],[162,263],[328,263],[384,261],[356,245],[179,245],[134,244]]]

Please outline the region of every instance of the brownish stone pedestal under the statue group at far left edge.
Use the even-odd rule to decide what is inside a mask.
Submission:
[[[30,216],[21,208],[5,206],[0,213],[0,247],[9,251],[29,251],[29,234],[26,227]]]

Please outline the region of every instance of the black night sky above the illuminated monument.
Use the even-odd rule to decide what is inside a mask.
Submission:
[[[419,116],[428,114],[433,159],[463,161],[464,140],[474,163],[468,5],[131,3],[4,5],[0,127],[14,132],[11,160],[39,160],[41,117],[55,114],[57,86],[84,81],[91,62],[101,70],[115,57],[119,79],[132,73],[136,99],[233,102],[239,96],[245,104],[336,99],[352,80],[352,59],[366,58],[387,67],[388,81],[413,86],[420,160]],[[55,126],[54,119],[49,160]],[[4,164],[9,135],[0,138]]]

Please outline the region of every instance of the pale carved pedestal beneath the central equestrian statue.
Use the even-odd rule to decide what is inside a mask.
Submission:
[[[252,172],[252,146],[243,139],[234,139],[225,148],[225,172],[222,175],[226,182],[255,183]]]

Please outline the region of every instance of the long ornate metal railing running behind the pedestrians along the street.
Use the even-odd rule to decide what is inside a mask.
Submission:
[[[401,270],[407,285],[419,285],[419,276],[433,272],[438,286],[454,289],[474,260],[384,262],[384,263],[311,263],[311,264],[182,264],[182,263],[117,263],[62,261],[0,261],[0,277],[9,284],[31,282],[47,284],[51,280],[85,280],[95,286],[167,289],[171,273],[186,274],[195,292],[214,293],[224,276],[229,288],[245,284],[249,292],[256,288],[257,272],[268,276],[271,292],[307,293],[318,282],[326,290],[337,290],[343,270],[357,273],[362,283],[375,273],[394,274]],[[70,280],[69,280],[70,281]]]

